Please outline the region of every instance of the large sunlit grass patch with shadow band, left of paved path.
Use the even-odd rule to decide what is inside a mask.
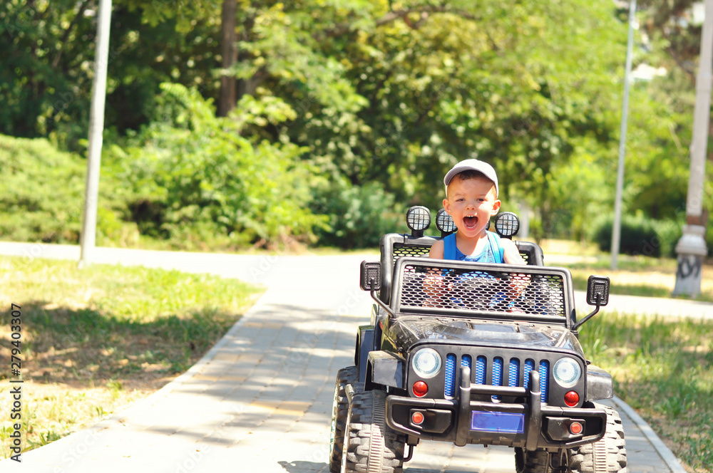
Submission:
[[[93,425],[153,393],[204,355],[259,292],[240,281],[141,267],[0,259],[0,358],[21,306],[24,449]],[[9,363],[0,390],[10,392]],[[3,397],[7,394],[3,394]],[[2,402],[9,405],[9,402]],[[0,458],[9,456],[3,409]]]

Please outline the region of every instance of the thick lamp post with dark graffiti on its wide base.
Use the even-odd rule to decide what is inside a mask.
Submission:
[[[693,112],[693,140],[691,166],[686,199],[686,224],[676,245],[677,271],[674,296],[701,292],[701,269],[708,253],[703,217],[703,183],[706,172],[708,124],[711,106],[711,78],[713,61],[713,0],[705,1],[705,19],[701,36],[701,53],[696,76],[696,105]]]

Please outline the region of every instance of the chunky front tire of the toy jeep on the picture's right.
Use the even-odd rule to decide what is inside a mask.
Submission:
[[[570,449],[572,473],[626,473],[626,442],[619,412],[605,405],[595,404],[607,411],[607,433],[593,444]]]

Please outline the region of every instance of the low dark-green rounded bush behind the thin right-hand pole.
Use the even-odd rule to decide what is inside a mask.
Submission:
[[[602,251],[612,250],[614,218],[602,217],[593,225],[593,241]],[[652,220],[637,215],[622,216],[619,252],[631,255],[662,256],[670,248],[669,242],[661,239]],[[663,251],[665,250],[665,251]]]

